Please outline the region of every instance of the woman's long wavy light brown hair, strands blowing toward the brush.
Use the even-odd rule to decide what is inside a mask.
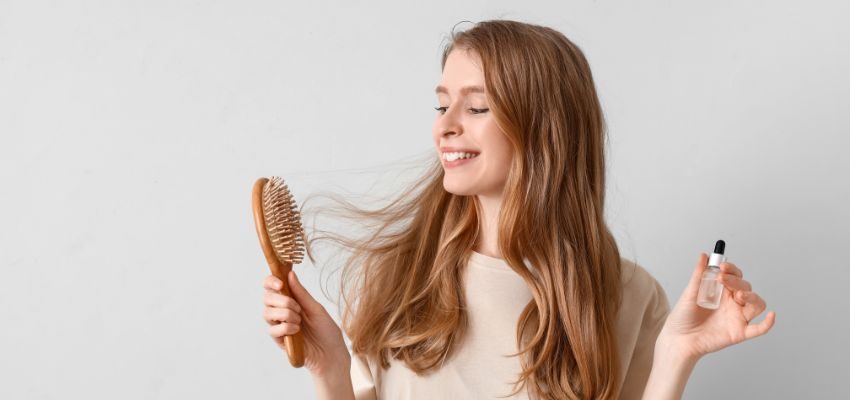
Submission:
[[[441,68],[453,50],[480,57],[490,110],[513,148],[498,245],[533,297],[517,321],[514,393],[615,398],[621,265],[604,221],[606,127],[588,62],[560,32],[517,21],[478,22],[450,39]],[[443,188],[443,174],[435,155],[383,208],[340,199],[341,215],[371,223],[369,233],[306,240],[311,260],[316,240],[351,250],[343,330],[354,353],[383,368],[393,357],[417,374],[438,369],[467,332],[462,269],[482,214],[475,196]]]

